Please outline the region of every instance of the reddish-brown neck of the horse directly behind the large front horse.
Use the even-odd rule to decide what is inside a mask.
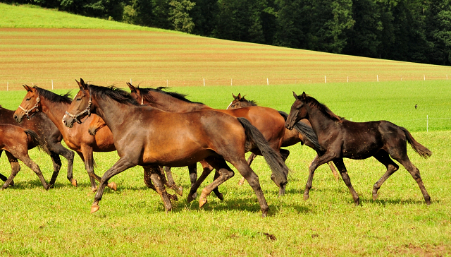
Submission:
[[[154,101],[149,102],[149,105],[165,112],[194,112],[202,109],[211,109],[205,104],[186,102],[164,93],[152,92],[152,94]]]

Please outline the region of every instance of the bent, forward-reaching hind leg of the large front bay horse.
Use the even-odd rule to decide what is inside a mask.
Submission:
[[[214,179],[211,184],[209,184],[202,190],[202,193],[199,197],[199,208],[202,208],[202,206],[205,205],[207,201],[206,197],[209,196],[211,191],[217,189],[219,185],[223,184],[226,180],[230,179],[235,174],[233,170],[228,167],[226,161],[223,158],[209,157],[206,162],[208,162],[211,167],[214,167],[214,169],[216,169],[218,176],[216,176],[215,174],[216,179]]]

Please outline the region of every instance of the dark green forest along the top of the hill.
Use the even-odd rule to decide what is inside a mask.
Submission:
[[[224,40],[451,64],[451,0],[20,1]]]

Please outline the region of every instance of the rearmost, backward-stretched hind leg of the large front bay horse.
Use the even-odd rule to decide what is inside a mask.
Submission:
[[[266,203],[263,191],[261,190],[259,177],[257,176],[257,174],[255,174],[255,172],[251,169],[251,167],[247,165],[247,162],[245,162],[245,160],[242,161],[237,160],[236,162],[230,163],[238,170],[238,172],[240,172],[242,177],[245,177],[247,183],[249,183],[249,186],[251,186],[252,189],[254,189],[254,192],[257,196],[257,200],[259,201],[260,204],[261,217],[266,217],[266,215],[268,215],[269,207],[268,203]]]

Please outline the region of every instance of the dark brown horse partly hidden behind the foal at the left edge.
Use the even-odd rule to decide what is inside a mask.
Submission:
[[[42,142],[49,149],[50,158],[53,162],[54,173],[51,176],[49,181],[49,186],[54,186],[56,177],[58,177],[59,170],[61,169],[61,160],[59,155],[68,160],[68,175],[67,178],[73,186],[77,186],[77,180],[73,178],[72,169],[73,169],[73,157],[74,153],[71,150],[68,150],[63,145],[61,145],[61,140],[63,136],[56,128],[55,124],[51,122],[51,120],[47,117],[47,115],[42,112],[35,112],[33,115],[35,119],[25,119],[23,122],[19,124],[13,119],[14,111],[1,107],[0,105],[0,124],[11,124],[20,126],[21,128],[30,129],[35,131],[39,138],[42,139]],[[32,142],[30,142],[32,144]],[[35,145],[37,146],[37,145]],[[35,147],[33,146],[33,147]],[[0,156],[3,151],[0,150]],[[6,177],[0,174],[0,179],[6,181]],[[11,181],[11,186],[13,186],[13,181]]]

